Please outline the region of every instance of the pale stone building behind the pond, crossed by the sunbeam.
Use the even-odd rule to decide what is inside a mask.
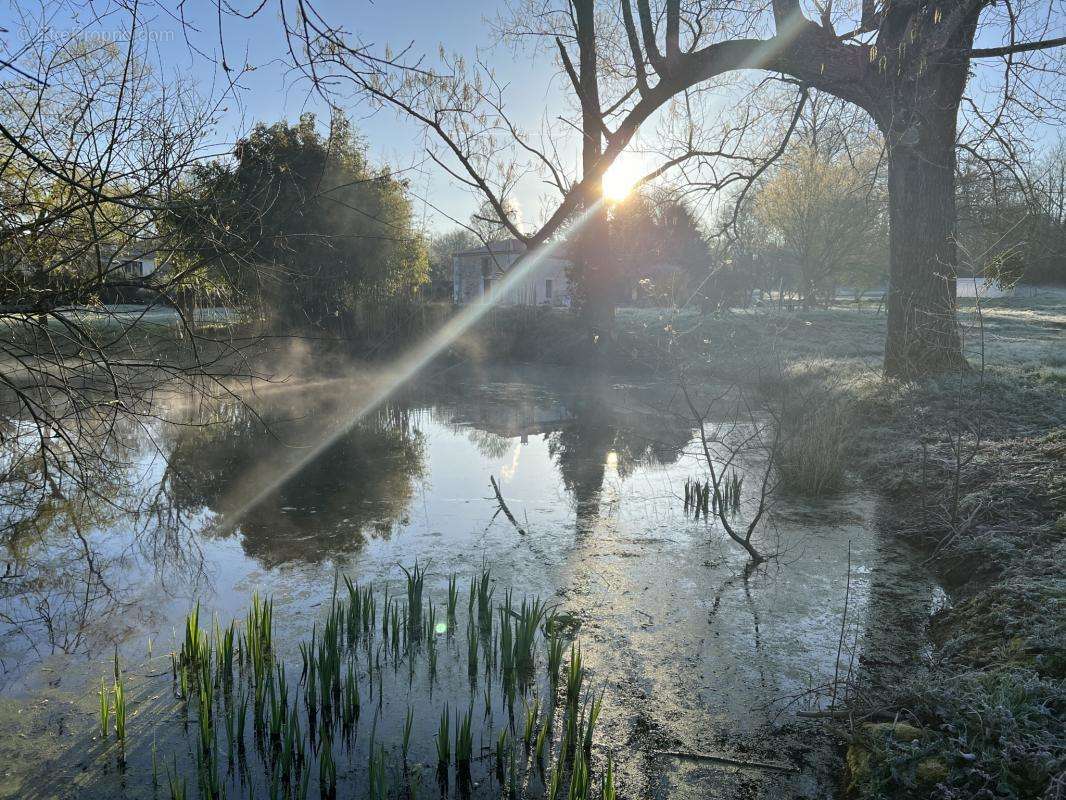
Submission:
[[[452,300],[458,305],[485,302],[494,286],[507,276],[511,267],[524,252],[522,242],[505,239],[456,253],[452,259]],[[539,258],[529,267],[528,275],[523,275],[495,301],[500,305],[568,306],[570,279],[566,272],[569,266],[565,258]]]

